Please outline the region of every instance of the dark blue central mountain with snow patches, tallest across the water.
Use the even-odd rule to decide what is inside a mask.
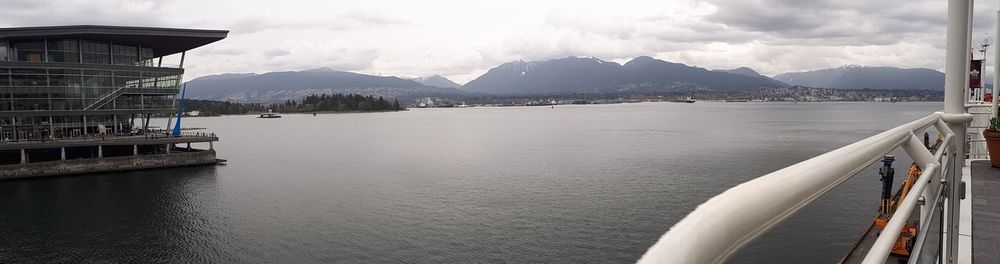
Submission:
[[[490,69],[462,90],[495,95],[573,93],[676,93],[785,87],[765,76],[747,76],[642,56],[625,64],[597,58],[566,57],[515,61]]]

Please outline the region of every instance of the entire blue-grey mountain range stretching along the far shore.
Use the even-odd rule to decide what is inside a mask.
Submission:
[[[592,57],[566,57],[504,63],[465,85],[440,75],[405,79],[329,68],[211,75],[187,82],[187,97],[273,103],[297,100],[310,94],[356,93],[406,101],[423,97],[461,99],[573,94],[674,96],[791,86],[942,90],[943,84],[944,74],[930,69],[843,66],[782,73],[770,78],[746,67],[707,70],[648,56],[625,64]]]

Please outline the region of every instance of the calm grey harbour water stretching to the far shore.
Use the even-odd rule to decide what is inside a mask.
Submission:
[[[634,262],[709,197],[940,108],[699,102],[190,118],[185,126],[221,136],[228,165],[0,182],[0,263]],[[876,212],[875,174],[734,262],[839,260]]]

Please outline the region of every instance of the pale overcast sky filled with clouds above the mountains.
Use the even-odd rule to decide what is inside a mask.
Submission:
[[[465,83],[514,60],[648,55],[765,75],[845,64],[943,70],[946,0],[3,0],[0,26],[228,29],[186,78],[329,67]],[[977,1],[974,42],[996,1]],[[992,63],[988,63],[992,65]]]

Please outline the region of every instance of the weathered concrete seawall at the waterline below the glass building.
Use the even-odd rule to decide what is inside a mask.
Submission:
[[[214,150],[0,165],[0,180],[219,163]]]

